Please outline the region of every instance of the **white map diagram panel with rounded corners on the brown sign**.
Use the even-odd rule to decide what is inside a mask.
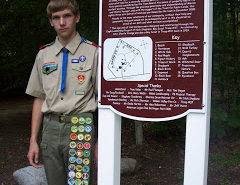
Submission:
[[[134,38],[136,40],[136,38]],[[120,81],[147,81],[151,70],[146,68],[148,52],[146,47],[149,42],[144,39],[138,39],[138,42],[133,39],[114,39],[111,42],[111,47],[107,43],[107,48],[113,48],[111,54],[108,54],[108,59],[104,60],[105,74],[104,78],[108,81],[120,80]],[[110,43],[110,42],[109,42]],[[113,45],[115,43],[115,45]],[[139,47],[140,49],[138,49]],[[105,48],[106,49],[106,48]],[[109,50],[107,50],[109,51]],[[144,58],[145,56],[145,58]],[[150,60],[149,60],[150,58]],[[151,57],[148,58],[152,66]],[[107,73],[106,73],[107,70]]]

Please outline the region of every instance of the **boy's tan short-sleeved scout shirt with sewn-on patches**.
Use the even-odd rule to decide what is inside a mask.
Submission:
[[[60,93],[63,46],[56,38],[54,44],[39,51],[26,93],[44,99],[43,113],[74,114],[96,109],[98,49],[89,41],[80,42],[77,33],[66,46],[69,54],[64,94]]]

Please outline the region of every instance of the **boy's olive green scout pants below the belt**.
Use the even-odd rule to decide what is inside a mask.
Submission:
[[[74,164],[74,161],[71,161],[70,159],[80,159],[81,156],[77,156],[79,153],[79,149],[73,148],[72,143],[76,143],[76,146],[79,146],[78,143],[79,137],[73,138],[71,137],[72,134],[76,134],[76,136],[79,135],[86,135],[84,131],[80,131],[80,129],[76,129],[73,131],[72,127],[75,128],[78,126],[82,127],[84,124],[80,120],[82,118],[87,118],[90,120],[93,120],[93,115],[91,113],[82,113],[79,115],[72,115],[64,117],[64,119],[60,118],[61,116],[57,115],[46,115],[43,119],[43,131],[42,131],[42,142],[41,142],[41,149],[42,149],[42,157],[43,157],[43,163],[45,167],[46,177],[48,181],[48,185],[67,185],[74,183],[73,181],[85,181],[86,184],[91,184],[90,182],[90,175],[88,175],[88,179],[80,179],[79,173],[83,174],[83,172],[76,171],[70,171],[70,165],[72,166],[80,166],[78,164]],[[72,120],[74,118],[74,122],[72,123]],[[76,118],[80,118],[79,122],[76,123]],[[78,119],[77,119],[78,120]],[[93,125],[93,123],[91,124]],[[74,132],[74,133],[73,133]],[[94,152],[94,137],[93,137],[94,129],[92,129],[91,133],[87,133],[92,135],[92,140],[88,141],[88,143],[91,144],[91,156],[93,156]],[[80,139],[81,140],[81,139]],[[81,141],[82,142],[82,141]],[[70,144],[71,143],[71,144]],[[76,153],[72,154],[70,150],[76,150]],[[82,149],[81,149],[82,150]],[[81,153],[85,153],[85,150],[83,148]],[[71,154],[71,155],[70,155]],[[84,159],[84,156],[82,156]],[[90,164],[88,164],[89,168],[91,169],[92,174],[92,165],[93,165],[93,157],[89,156]],[[82,165],[82,164],[81,164]],[[72,170],[72,169],[71,169]],[[70,176],[74,172],[76,176]],[[90,172],[90,170],[89,170]],[[77,176],[78,173],[78,176]],[[89,173],[90,174],[90,173]],[[70,177],[69,177],[70,176]],[[69,183],[69,180],[71,183]]]

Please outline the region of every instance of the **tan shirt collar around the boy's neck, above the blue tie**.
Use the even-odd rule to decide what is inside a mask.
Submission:
[[[67,48],[71,54],[74,54],[78,46],[80,45],[80,43],[81,43],[81,36],[79,33],[77,33],[76,36],[66,45],[65,48]],[[62,44],[59,42],[58,37],[56,37],[55,54],[58,55],[61,52],[62,48],[63,48]]]

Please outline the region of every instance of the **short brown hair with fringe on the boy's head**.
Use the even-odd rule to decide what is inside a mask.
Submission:
[[[77,16],[79,13],[79,5],[76,0],[50,0],[47,6],[48,17],[52,17],[52,13],[69,8],[72,13]]]

